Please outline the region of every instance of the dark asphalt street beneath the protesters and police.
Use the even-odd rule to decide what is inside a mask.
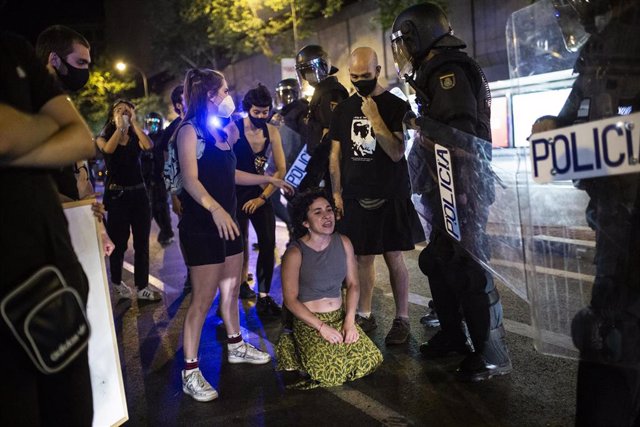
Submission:
[[[177,219],[173,217],[174,229]],[[176,230],[177,233],[177,230]],[[533,348],[528,304],[501,283],[507,342],[513,373],[481,383],[460,383],[461,357],[426,360],[419,345],[436,332],[420,324],[430,299],[417,266],[421,247],[405,253],[410,277],[411,336],[404,345],[385,346],[394,302],[382,257],[376,260],[374,314],[370,336],[384,355],[372,375],[329,389],[286,389],[290,374],[275,372],[275,360],[261,366],[226,361],[225,333],[216,315],[207,317],[200,345],[201,369],[220,393],[212,402],[183,394],[182,322],[190,294],[183,294],[186,268],[176,241],[167,248],[151,235],[151,283],[160,303],[120,300],[112,292],[114,318],[131,426],[566,426],[574,423],[577,362],[545,356]],[[176,235],[177,238],[177,235]],[[255,241],[255,236],[250,237]],[[277,227],[277,263],[272,296],[282,302],[280,256],[288,239]],[[130,244],[131,248],[131,244]],[[251,268],[257,252],[251,251]],[[124,280],[133,286],[133,254],[126,255]],[[279,320],[258,317],[254,301],[240,301],[242,333],[274,356]]]

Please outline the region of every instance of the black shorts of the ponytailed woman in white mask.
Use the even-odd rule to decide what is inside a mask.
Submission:
[[[221,239],[217,231],[193,232],[180,228],[180,244],[189,267],[222,264],[225,258],[242,252],[242,236]]]

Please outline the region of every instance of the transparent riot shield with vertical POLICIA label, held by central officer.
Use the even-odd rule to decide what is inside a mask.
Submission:
[[[527,300],[514,162],[492,162],[491,142],[426,117],[406,126],[415,135],[407,161],[425,235],[441,230]]]

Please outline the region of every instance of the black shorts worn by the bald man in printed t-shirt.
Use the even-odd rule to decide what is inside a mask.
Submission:
[[[389,199],[371,210],[355,199],[346,199],[337,229],[351,239],[356,255],[410,251],[415,243],[425,240],[411,199]]]

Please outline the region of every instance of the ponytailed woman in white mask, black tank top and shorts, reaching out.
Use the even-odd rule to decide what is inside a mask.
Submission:
[[[218,397],[199,369],[202,327],[220,289],[220,313],[228,341],[229,363],[264,364],[268,353],[244,342],[240,334],[238,291],[242,266],[242,239],[236,220],[235,184],[274,184],[281,179],[236,170],[232,143],[238,130],[231,123],[216,128],[210,117],[228,118],[235,106],[222,73],[208,69],[187,72],[184,84],[185,119],[177,133],[177,153],[183,189],[183,212],[178,224],[191,275],[192,297],[184,320],[185,369],[182,391],[197,401]]]

